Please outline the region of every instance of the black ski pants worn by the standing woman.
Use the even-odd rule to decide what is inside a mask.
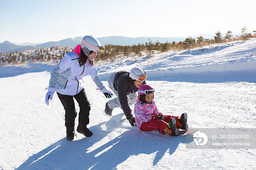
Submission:
[[[63,95],[57,92],[57,95],[64,106],[65,109],[65,126],[67,128],[71,128],[75,126],[75,118],[77,115],[75,103],[73,97],[79,104],[80,111],[79,111],[79,124],[87,125],[89,124],[89,115],[90,115],[90,102],[87,99],[86,93],[84,88],[76,95],[69,96]]]

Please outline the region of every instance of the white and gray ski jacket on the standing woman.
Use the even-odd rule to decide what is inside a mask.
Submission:
[[[80,67],[78,59],[79,55],[74,51],[65,54],[51,72],[49,87],[55,88],[60,94],[74,96],[83,89],[81,84],[83,76],[90,74],[91,79],[102,90],[104,86],[97,74],[97,69],[91,66],[88,60],[84,66]]]

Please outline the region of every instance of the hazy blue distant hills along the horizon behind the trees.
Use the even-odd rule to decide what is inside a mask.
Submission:
[[[0,52],[15,52],[15,51],[25,51],[25,50],[33,50],[37,48],[45,48],[45,47],[75,47],[77,44],[81,43],[83,37],[72,37],[67,38],[60,41],[49,41],[44,44],[33,45],[30,43],[17,44],[12,43],[10,41],[4,41],[0,43]],[[152,42],[156,42],[157,40],[161,43],[172,42],[172,41],[184,41],[183,37],[124,37],[124,36],[109,36],[109,37],[99,37],[97,38],[102,45],[112,44],[112,45],[120,45],[120,46],[132,46],[140,44],[145,44],[150,39]]]

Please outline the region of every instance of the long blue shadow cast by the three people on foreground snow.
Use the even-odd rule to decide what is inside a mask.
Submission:
[[[123,114],[114,115],[122,117]],[[172,155],[180,143],[186,143],[186,138],[171,137],[158,133],[142,132],[135,127],[128,129],[116,138],[107,142],[101,141],[120,124],[114,116],[108,122],[90,127],[93,137],[78,141],[66,141],[65,138],[32,155],[17,169],[116,169],[117,165],[133,155],[152,154],[156,152],[153,165],[163,157],[167,150]],[[101,126],[106,126],[102,130]],[[104,142],[105,144],[101,144]],[[191,138],[192,142],[193,139]],[[94,145],[94,146],[93,146]],[[99,146],[99,147],[98,147]]]

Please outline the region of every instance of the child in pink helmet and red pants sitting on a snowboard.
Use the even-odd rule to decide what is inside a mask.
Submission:
[[[161,134],[177,136],[178,129],[188,130],[187,113],[179,116],[163,115],[155,105],[155,90],[147,84],[139,87],[134,106],[135,121],[141,131],[158,130]]]

